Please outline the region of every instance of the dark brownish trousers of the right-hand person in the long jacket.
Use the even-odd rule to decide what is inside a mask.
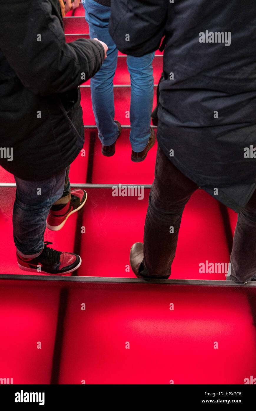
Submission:
[[[197,188],[158,147],[145,221],[144,259],[139,268],[144,278],[170,276],[182,213]],[[256,191],[238,213],[230,262],[231,275],[227,279],[244,282],[256,277]]]

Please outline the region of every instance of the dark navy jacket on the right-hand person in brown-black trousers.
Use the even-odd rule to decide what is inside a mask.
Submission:
[[[240,211],[256,189],[255,0],[112,0],[109,32],[134,56],[166,36],[158,143],[182,173]]]

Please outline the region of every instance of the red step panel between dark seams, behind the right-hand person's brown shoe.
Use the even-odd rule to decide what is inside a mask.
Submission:
[[[134,277],[129,253],[134,242],[143,242],[150,190],[144,189],[143,199],[113,197],[112,189],[86,192],[88,200],[77,224],[86,231],[79,243],[82,266],[78,275]],[[229,263],[229,252],[217,200],[197,190],[184,210],[171,278],[224,280],[225,273],[199,273],[199,264],[206,260]]]

